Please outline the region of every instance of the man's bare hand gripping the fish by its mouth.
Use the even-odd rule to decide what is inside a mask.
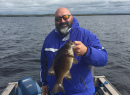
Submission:
[[[87,47],[81,41],[74,41],[76,46],[73,47],[76,56],[83,56],[87,52]]]

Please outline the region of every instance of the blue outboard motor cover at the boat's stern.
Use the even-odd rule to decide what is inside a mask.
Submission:
[[[30,76],[18,81],[16,95],[41,95],[41,88]]]

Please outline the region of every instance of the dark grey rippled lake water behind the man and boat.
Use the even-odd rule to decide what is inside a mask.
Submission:
[[[107,65],[96,67],[95,75],[105,75],[123,95],[129,95],[130,15],[76,18],[108,52]],[[8,82],[22,77],[39,81],[42,44],[54,28],[54,17],[0,17],[0,93]]]

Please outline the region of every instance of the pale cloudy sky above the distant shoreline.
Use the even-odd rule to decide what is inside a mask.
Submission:
[[[130,13],[130,0],[0,0],[0,15],[54,14],[59,7],[71,14]]]

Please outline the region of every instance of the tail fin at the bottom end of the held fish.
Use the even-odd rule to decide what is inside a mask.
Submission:
[[[65,90],[64,90],[64,87],[63,87],[63,84],[58,84],[58,83],[55,83],[54,84],[54,87],[52,89],[52,94],[56,94],[58,92],[63,92],[65,93]]]

